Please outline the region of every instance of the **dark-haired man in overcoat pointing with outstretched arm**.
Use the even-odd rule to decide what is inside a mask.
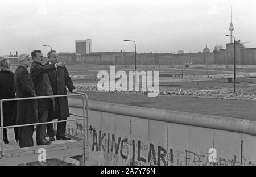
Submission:
[[[31,52],[32,64],[30,74],[34,83],[36,96],[53,95],[51,82],[49,81],[48,72],[55,70],[57,67],[63,67],[64,62],[57,64],[43,65],[43,54],[40,50]],[[49,110],[55,111],[54,98],[38,99],[38,120],[39,123],[45,123],[48,119]],[[36,127],[36,144],[48,145],[51,141],[46,140],[46,124],[37,125]]]

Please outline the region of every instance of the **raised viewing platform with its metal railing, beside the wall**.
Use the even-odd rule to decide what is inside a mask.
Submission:
[[[42,98],[59,98],[67,96],[79,96],[82,98],[82,111],[80,114],[71,113],[71,119],[61,120],[61,121],[51,121],[46,123],[36,123],[36,124],[23,124],[23,125],[13,125],[13,126],[3,126],[3,102],[9,102],[14,100],[28,100],[28,99],[42,99]],[[86,107],[85,107],[86,102]],[[2,99],[0,100],[0,110],[1,110],[1,141],[0,141],[0,166],[1,165],[19,165],[27,162],[37,162],[46,161],[47,159],[61,158],[61,157],[71,157],[80,162],[80,165],[86,165],[86,145],[89,144],[88,141],[88,128],[86,121],[88,121],[88,96],[83,93],[70,94],[70,95],[55,95],[55,96],[35,96],[30,98],[15,98],[15,99]],[[86,111],[86,113],[85,113]],[[56,140],[52,141],[51,145],[36,145],[36,125],[42,124],[52,124],[68,121],[81,121],[83,127],[86,127],[86,133],[83,137],[72,136],[71,134],[66,134],[71,140]],[[34,146],[20,148],[15,140],[13,127],[24,127],[34,125],[33,140]],[[3,128],[7,128],[9,144],[3,144]],[[11,128],[11,129],[10,129]],[[56,130],[56,128],[55,128]],[[46,136],[46,139],[48,137]]]

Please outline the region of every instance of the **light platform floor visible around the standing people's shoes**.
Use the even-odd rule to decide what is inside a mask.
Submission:
[[[14,149],[20,149],[18,143],[15,140],[15,135],[14,135],[14,129],[7,129],[7,135],[8,135],[8,141],[9,144],[5,144],[5,150],[14,150]],[[0,137],[2,138],[2,134],[1,134],[1,129],[0,129]],[[49,140],[49,137],[46,137],[47,140]],[[34,146],[36,146],[36,131],[34,131],[33,133],[33,140],[34,140]],[[71,137],[71,140],[56,140],[56,136],[55,136],[55,141],[52,141],[52,145],[55,144],[63,144],[65,142],[73,142],[73,141],[77,141],[75,139],[73,139]],[[43,147],[43,146],[40,146]],[[2,150],[2,142],[0,141],[0,151]]]

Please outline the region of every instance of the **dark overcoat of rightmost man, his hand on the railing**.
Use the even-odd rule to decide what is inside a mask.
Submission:
[[[46,63],[49,65],[49,62]],[[56,70],[48,72],[49,79],[51,81],[52,90],[54,95],[67,95],[67,89],[72,92],[75,89],[71,78],[69,77],[68,70],[65,66],[58,67]],[[56,98],[55,99],[55,112],[50,112],[50,119],[59,119],[65,120],[69,117],[69,107],[68,107],[68,99],[67,97]],[[60,115],[57,114],[57,111],[60,111]]]

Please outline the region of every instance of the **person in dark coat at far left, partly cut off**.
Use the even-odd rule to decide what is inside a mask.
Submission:
[[[16,98],[14,92],[14,73],[10,69],[10,61],[0,57],[0,99]],[[3,102],[3,126],[15,125],[12,121],[15,101]],[[1,123],[1,120],[0,120]],[[15,139],[18,140],[18,128],[15,128]],[[8,144],[7,129],[3,129],[3,141]]]

